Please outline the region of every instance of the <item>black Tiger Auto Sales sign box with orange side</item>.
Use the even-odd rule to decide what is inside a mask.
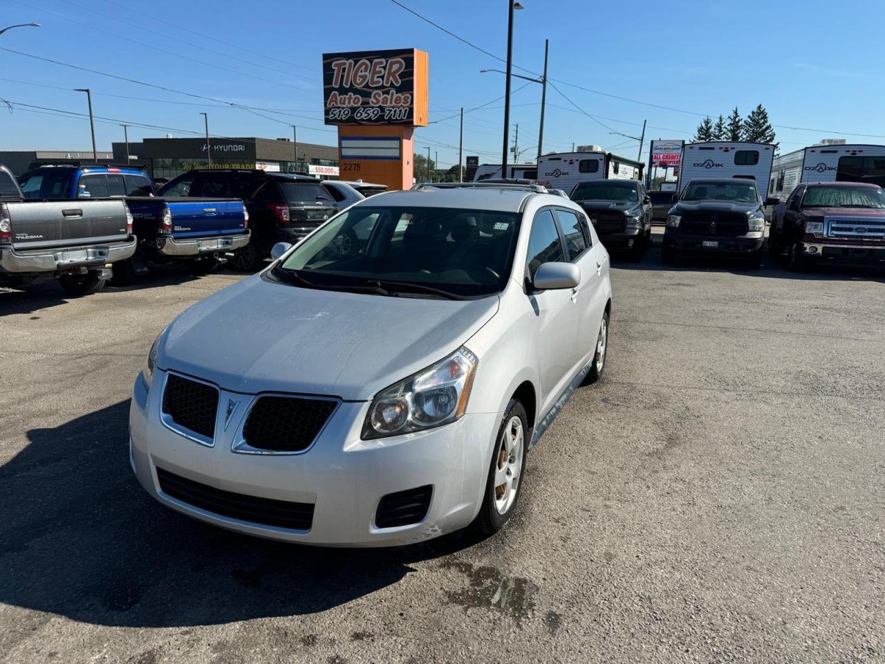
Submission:
[[[427,126],[427,53],[418,49],[323,54],[327,125]]]

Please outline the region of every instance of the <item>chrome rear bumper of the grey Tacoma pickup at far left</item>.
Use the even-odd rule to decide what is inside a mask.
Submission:
[[[135,253],[135,237],[126,242],[58,249],[15,251],[0,248],[0,273],[65,273],[81,267],[104,267],[107,263],[128,259]]]

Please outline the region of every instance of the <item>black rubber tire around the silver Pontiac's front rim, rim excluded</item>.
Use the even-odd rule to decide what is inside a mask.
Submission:
[[[502,462],[504,462],[504,470],[512,468],[511,459],[502,458],[502,452],[506,452],[505,450],[502,450],[502,444],[506,446],[504,436],[508,434],[512,435],[511,427],[514,419],[519,420],[522,444],[519,450],[519,453],[521,454],[521,459],[519,459],[519,471],[515,478],[516,489],[513,490],[514,493],[512,499],[509,499],[510,497],[507,492],[512,489],[509,487],[504,489],[504,495],[502,496],[499,488],[500,486],[504,486],[504,484],[496,486],[495,475],[496,472],[502,470],[502,468],[500,468]],[[510,403],[507,404],[507,408],[504,411],[504,418],[501,420],[501,426],[498,428],[495,436],[495,448],[494,452],[492,452],[491,462],[489,463],[489,475],[486,479],[485,495],[482,498],[480,513],[476,515],[472,524],[474,529],[479,530],[484,535],[492,535],[504,528],[504,526],[507,525],[507,521],[510,521],[513,512],[516,511],[516,505],[519,502],[519,494],[522,493],[523,478],[526,475],[526,452],[531,437],[532,430],[528,428],[526,409],[521,403],[519,403],[519,401],[511,399]],[[496,505],[499,496],[502,496],[502,499],[504,496],[507,496],[508,498],[508,500],[505,501],[507,506],[503,513]]]

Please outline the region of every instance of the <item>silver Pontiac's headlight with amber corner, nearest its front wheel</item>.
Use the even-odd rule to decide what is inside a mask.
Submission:
[[[479,362],[464,346],[448,358],[379,392],[363,424],[363,440],[399,436],[456,421],[466,412]]]

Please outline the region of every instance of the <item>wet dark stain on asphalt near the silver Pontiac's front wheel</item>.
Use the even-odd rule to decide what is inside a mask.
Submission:
[[[446,562],[443,568],[457,569],[469,587],[445,591],[451,604],[467,608],[493,607],[512,615],[518,622],[535,608],[538,586],[521,576],[506,576],[496,567],[473,567],[467,562]]]

